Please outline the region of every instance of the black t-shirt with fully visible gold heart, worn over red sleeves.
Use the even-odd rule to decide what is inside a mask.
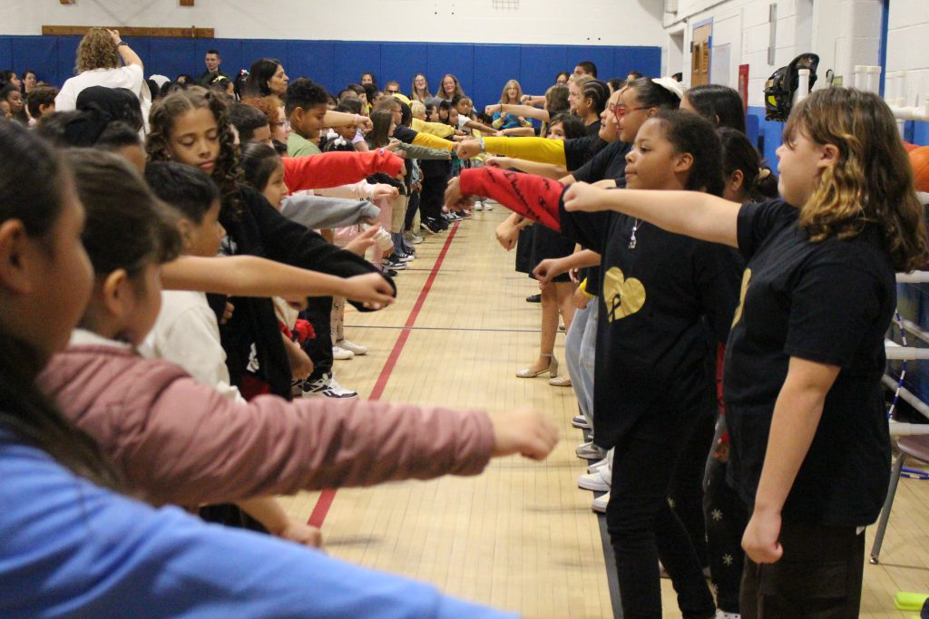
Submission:
[[[632,217],[560,210],[562,232],[602,256],[596,445],[616,445],[644,414],[666,422],[655,432],[675,432],[681,416],[704,411],[713,388],[703,364],[708,342],[725,340],[732,322],[738,254],[642,222],[630,249]]]

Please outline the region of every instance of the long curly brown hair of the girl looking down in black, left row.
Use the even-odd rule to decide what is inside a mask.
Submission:
[[[242,176],[239,166],[239,147],[235,143],[232,123],[229,121],[229,99],[220,93],[193,86],[188,90],[171,93],[151,107],[150,133],[145,143],[149,161],[171,160],[171,131],[177,117],[193,110],[207,109],[216,119],[219,135],[219,156],[212,178],[219,187],[219,200],[223,209],[238,215],[242,211],[242,197],[238,183]]]

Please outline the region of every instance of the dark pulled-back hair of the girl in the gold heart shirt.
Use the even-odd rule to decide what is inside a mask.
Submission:
[[[664,125],[665,139],[674,150],[693,156],[684,188],[722,196],[723,148],[713,125],[697,114],[678,110],[661,110],[651,120]]]

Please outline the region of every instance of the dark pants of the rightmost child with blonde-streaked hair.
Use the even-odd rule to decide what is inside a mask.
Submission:
[[[782,522],[780,561],[745,558],[743,619],[855,619],[865,561],[865,534],[855,529]]]

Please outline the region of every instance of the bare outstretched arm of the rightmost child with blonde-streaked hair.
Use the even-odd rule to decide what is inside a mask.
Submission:
[[[568,211],[616,211],[695,239],[739,246],[740,205],[698,191],[599,189],[575,183],[565,192]]]

